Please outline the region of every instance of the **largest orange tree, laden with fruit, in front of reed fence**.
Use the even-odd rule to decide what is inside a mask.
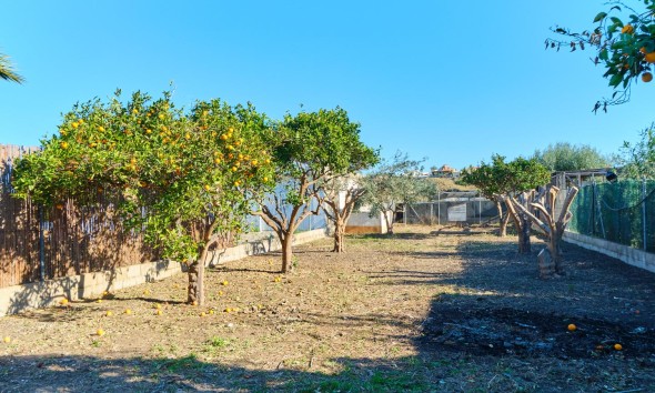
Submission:
[[[140,92],[123,103],[78,104],[43,150],[17,163],[17,195],[53,205],[112,201],[125,229],[164,258],[188,264],[188,302],[203,304],[203,272],[220,235],[243,229],[255,195],[272,178],[263,134],[266,118],[251,105],[220,100],[177,109],[170,93]]]

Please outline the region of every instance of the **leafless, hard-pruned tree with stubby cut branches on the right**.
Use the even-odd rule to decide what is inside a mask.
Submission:
[[[513,201],[513,205],[521,211],[521,213],[527,216],[540,231],[546,236],[546,248],[540,252],[540,275],[543,279],[547,279],[553,274],[564,274],[564,268],[562,265],[562,236],[566,230],[566,225],[573,218],[573,213],[570,211],[571,204],[577,195],[578,189],[572,185],[564,199],[562,210],[558,212],[555,209],[556,199],[560,196],[560,189],[554,185],[542,188],[541,192],[534,198],[534,202],[530,205],[538,212],[534,214],[531,209],[524,206],[524,204]],[[538,216],[537,216],[538,215]]]

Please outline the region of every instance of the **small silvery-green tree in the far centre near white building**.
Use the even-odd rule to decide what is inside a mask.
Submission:
[[[362,178],[365,194],[361,203],[370,206],[371,216],[384,216],[390,234],[393,234],[393,212],[397,204],[431,200],[436,194],[435,183],[416,175],[422,170],[422,162],[410,160],[406,153],[396,152],[392,161],[382,161]]]

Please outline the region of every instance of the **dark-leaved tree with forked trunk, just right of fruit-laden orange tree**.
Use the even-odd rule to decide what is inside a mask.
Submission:
[[[286,114],[269,140],[278,192],[260,200],[256,212],[282,244],[282,272],[292,269],[293,233],[318,214],[332,179],[367,168],[377,153],[360,141],[360,125],[341,108]],[[315,206],[312,208],[312,201]]]

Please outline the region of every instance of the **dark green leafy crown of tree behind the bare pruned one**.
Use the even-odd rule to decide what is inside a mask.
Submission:
[[[551,181],[551,172],[536,159],[522,157],[511,162],[500,154],[492,155],[490,164],[482,162],[477,168],[465,169],[462,180],[478,188],[487,199],[496,195],[516,194],[544,185]]]

